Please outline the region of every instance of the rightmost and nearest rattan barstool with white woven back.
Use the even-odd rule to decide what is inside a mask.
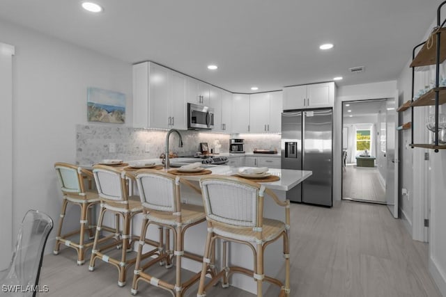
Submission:
[[[257,282],[257,296],[263,296],[263,280],[281,287],[279,296],[290,296],[289,200],[280,201],[275,193],[265,186],[239,177],[209,175],[201,178],[200,186],[208,221],[208,236],[197,297],[206,296],[206,289],[220,278],[223,279],[223,287],[227,287],[229,285],[228,278],[232,273],[243,273],[254,277]],[[265,194],[279,206],[285,207],[285,223],[280,220],[263,218]],[[218,238],[223,239],[225,267],[205,284],[213,246],[215,246],[215,239]],[[266,276],[263,267],[266,246],[281,238],[284,241],[285,284],[276,278]],[[240,266],[228,266],[226,241],[244,243],[251,248],[254,253],[253,270]]]

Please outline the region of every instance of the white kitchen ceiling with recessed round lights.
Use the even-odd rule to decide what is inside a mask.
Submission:
[[[116,57],[155,61],[234,93],[397,79],[440,0],[1,0],[0,19]],[[0,37],[1,38],[1,37]],[[8,42],[8,40],[1,40]],[[334,43],[321,51],[324,42]],[[219,69],[207,70],[215,63]],[[348,68],[365,66],[350,74]]]

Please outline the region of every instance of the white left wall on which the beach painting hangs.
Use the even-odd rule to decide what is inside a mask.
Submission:
[[[6,22],[0,22],[0,36],[15,45],[13,234],[17,234],[28,209],[44,211],[58,223],[60,190],[53,165],[75,162],[75,125],[87,123],[86,88],[124,93],[130,107],[132,66]],[[128,123],[131,115],[128,108]],[[54,234],[47,250],[53,248]]]

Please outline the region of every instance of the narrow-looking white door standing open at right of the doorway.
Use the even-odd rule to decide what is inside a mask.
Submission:
[[[386,108],[386,122],[387,122],[387,180],[385,182],[385,200],[387,207],[394,216],[398,218],[398,116],[397,104],[398,92],[394,98],[387,99]]]

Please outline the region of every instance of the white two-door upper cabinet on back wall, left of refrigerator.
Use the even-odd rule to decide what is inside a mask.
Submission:
[[[252,94],[249,98],[250,132],[280,132],[282,91]]]

